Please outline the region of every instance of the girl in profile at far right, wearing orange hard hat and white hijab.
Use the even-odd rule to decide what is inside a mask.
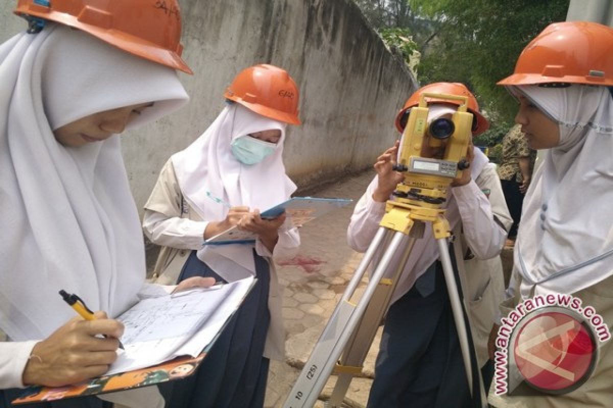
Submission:
[[[581,299],[579,313],[592,306],[605,324],[613,322],[612,55],[613,29],[587,22],[551,24],[524,49],[515,73],[500,81],[519,100],[516,122],[530,147],[547,149],[524,202],[502,317],[530,298],[558,293]],[[552,342],[554,348],[559,343]],[[593,373],[576,376],[564,388],[541,384],[544,392],[528,397],[535,391],[526,385],[516,396],[492,392],[490,404],[611,406],[611,341],[598,342]],[[513,352],[509,348],[508,354]],[[572,371],[563,357],[557,364]],[[535,378],[524,373],[527,385]]]

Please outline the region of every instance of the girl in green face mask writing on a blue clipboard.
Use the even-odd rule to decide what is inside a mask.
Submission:
[[[300,239],[285,215],[264,220],[259,212],[296,188],[282,155],[286,124],[300,123],[299,92],[285,70],[262,64],[238,73],[224,96],[229,105],[215,122],[160,172],[143,228],[166,247],[156,266],[162,283],[194,275],[223,282],[256,276],[257,283],[196,376],[162,387],[170,407],[262,407],[268,359],[284,357],[272,259],[294,257]],[[257,240],[202,247],[203,239],[235,225]]]

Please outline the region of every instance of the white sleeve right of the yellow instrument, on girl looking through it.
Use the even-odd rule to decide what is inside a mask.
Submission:
[[[477,259],[497,256],[504,246],[506,231],[495,220],[489,199],[481,188],[471,180],[468,184],[452,187],[462,218],[466,243]]]

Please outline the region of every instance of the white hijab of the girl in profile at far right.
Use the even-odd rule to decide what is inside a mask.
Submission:
[[[613,273],[613,101],[603,86],[511,87],[559,124],[528,189],[515,267],[522,297],[574,293]]]

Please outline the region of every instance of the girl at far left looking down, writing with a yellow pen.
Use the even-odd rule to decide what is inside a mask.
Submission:
[[[107,10],[90,2],[20,0],[30,29],[0,46],[0,329],[9,340],[0,343],[0,407],[17,388],[74,384],[115,360],[116,339],[96,335],[117,338],[120,322],[104,313],[70,321],[58,291],[110,317],[137,302],[143,240],[116,134],[188,100],[175,71],[191,73],[176,52],[180,19],[151,12],[152,0]],[[126,7],[146,10],[140,24]],[[110,27],[96,25],[98,12],[113,17]],[[168,30],[156,37],[147,26]]]

